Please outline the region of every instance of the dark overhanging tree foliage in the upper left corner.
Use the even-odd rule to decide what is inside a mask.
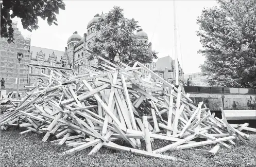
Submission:
[[[62,0],[2,0],[1,3],[1,38],[8,38],[8,43],[13,42],[12,18],[21,18],[24,29],[32,32],[37,30],[38,17],[40,16],[49,25],[58,25],[56,14],[59,8],[65,10]],[[14,42],[13,42],[14,43]]]

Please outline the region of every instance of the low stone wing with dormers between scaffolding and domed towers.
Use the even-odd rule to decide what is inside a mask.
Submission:
[[[57,70],[71,71],[71,61],[65,51],[58,51],[53,49],[40,48],[36,46],[30,47],[30,60],[29,60],[29,85],[46,84],[49,80],[42,75],[50,75],[50,69],[56,68]]]

